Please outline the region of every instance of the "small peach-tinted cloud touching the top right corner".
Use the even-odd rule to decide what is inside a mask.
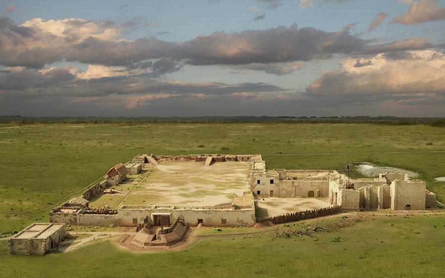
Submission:
[[[420,0],[418,2],[412,2],[404,14],[394,17],[390,22],[412,25],[444,19],[445,7],[438,6],[437,0]]]

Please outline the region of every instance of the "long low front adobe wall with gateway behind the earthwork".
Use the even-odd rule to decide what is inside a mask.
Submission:
[[[129,207],[129,208],[127,208]],[[130,208],[139,207],[139,208]],[[146,207],[140,206],[124,206],[118,209],[120,226],[137,226],[133,224],[133,219],[137,219],[137,223],[143,222],[143,219],[148,216],[149,223],[153,224],[152,214],[167,214],[170,215],[170,224],[179,218],[183,219],[184,223],[189,226],[197,226],[198,219],[203,220],[203,226],[254,226],[255,225],[255,209],[174,209],[165,207]],[[226,220],[222,224],[222,219]]]

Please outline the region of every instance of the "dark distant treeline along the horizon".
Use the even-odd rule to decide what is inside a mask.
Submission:
[[[429,125],[445,127],[445,118],[400,118],[393,116],[356,117],[269,117],[269,116],[209,116],[209,117],[23,117],[20,115],[0,116],[0,124],[235,124],[235,123],[282,123],[282,124],[379,124],[379,125]]]

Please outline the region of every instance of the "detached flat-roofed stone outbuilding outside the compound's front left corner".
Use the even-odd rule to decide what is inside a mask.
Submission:
[[[65,235],[63,223],[34,223],[8,239],[8,251],[11,255],[45,255],[57,251]]]

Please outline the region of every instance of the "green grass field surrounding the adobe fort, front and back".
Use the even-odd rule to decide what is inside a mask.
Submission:
[[[0,125],[0,236],[33,222],[47,222],[48,212],[58,201],[138,153],[260,153],[269,169],[341,170],[348,163],[364,161],[369,154],[277,154],[438,150],[445,150],[445,129],[425,125]],[[445,153],[375,154],[367,161],[419,173],[438,200],[445,201],[445,182],[434,181],[445,176]],[[359,174],[353,171],[352,176]],[[25,213],[36,210],[43,211]],[[100,277],[106,276],[100,270],[108,269],[116,276],[434,277],[443,273],[443,225],[443,214],[381,216],[319,235],[317,241],[271,240],[271,234],[264,234],[209,239],[187,250],[159,254],[131,254],[101,242],[68,254],[8,256],[3,240],[0,276]],[[330,241],[334,237],[344,240]],[[25,264],[30,267],[14,267]]]

